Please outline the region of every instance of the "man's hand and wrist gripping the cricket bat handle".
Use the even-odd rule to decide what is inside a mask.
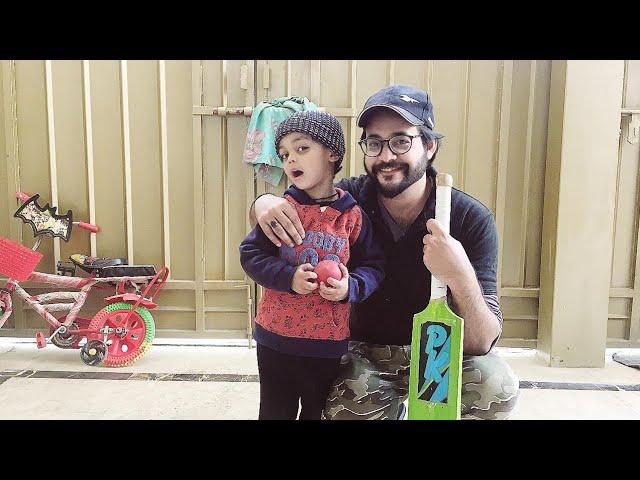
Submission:
[[[425,266],[432,275],[446,283],[451,291],[477,283],[476,274],[462,244],[442,229],[442,224],[431,218],[427,221],[427,233],[422,239]]]

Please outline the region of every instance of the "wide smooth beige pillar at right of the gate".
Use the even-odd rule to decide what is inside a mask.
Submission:
[[[538,354],[603,367],[624,61],[554,61]]]

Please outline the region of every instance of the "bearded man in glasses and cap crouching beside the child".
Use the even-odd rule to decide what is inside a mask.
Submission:
[[[403,416],[413,315],[429,301],[432,273],[448,285],[449,304],[464,318],[461,417],[508,418],[519,390],[511,368],[491,352],[502,332],[493,214],[454,188],[450,234],[435,220],[432,164],[442,135],[434,130],[426,92],[404,85],[383,88],[365,103],[358,126],[367,174],[337,186],[369,215],[384,246],[386,276],[376,292],[354,306],[349,352],[324,418]],[[259,197],[250,217],[278,246],[281,241],[299,244],[304,237],[295,210],[280,197]]]

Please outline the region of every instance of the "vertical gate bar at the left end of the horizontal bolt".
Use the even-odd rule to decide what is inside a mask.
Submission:
[[[203,65],[201,61],[191,62],[192,99],[194,105],[203,105]],[[203,334],[205,330],[204,318],[204,170],[203,170],[203,142],[202,122],[205,117],[193,115],[193,211],[194,211],[194,271],[195,271],[195,304],[196,304],[196,333]]]

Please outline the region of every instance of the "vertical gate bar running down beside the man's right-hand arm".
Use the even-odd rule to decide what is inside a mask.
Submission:
[[[502,250],[504,244],[504,221],[506,210],[507,191],[507,162],[509,150],[509,122],[511,116],[511,84],[513,81],[513,61],[503,61],[502,82],[500,84],[500,102],[498,104],[498,115],[500,124],[498,127],[498,162],[496,178],[496,228],[498,230],[498,289],[502,286]]]

